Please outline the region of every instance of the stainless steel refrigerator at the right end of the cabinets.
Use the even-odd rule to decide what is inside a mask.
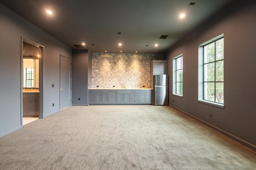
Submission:
[[[166,74],[153,76],[152,105],[168,105],[168,76]]]

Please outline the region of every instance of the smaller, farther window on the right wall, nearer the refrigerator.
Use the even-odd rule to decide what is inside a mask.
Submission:
[[[183,95],[183,55],[173,59],[173,94]]]

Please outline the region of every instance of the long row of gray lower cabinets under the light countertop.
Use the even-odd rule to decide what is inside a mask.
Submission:
[[[88,104],[151,104],[151,90],[88,90]]]

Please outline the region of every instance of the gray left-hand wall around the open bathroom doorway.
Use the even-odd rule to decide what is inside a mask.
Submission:
[[[43,117],[59,111],[60,53],[69,47],[0,4],[0,137],[22,128],[21,38],[44,46]],[[54,88],[52,88],[54,84]],[[52,107],[52,103],[55,104]]]

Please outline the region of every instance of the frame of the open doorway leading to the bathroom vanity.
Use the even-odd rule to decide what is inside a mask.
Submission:
[[[31,41],[30,39],[21,37],[21,55],[20,55],[20,60],[21,60],[21,64],[20,64],[20,70],[21,70],[21,74],[20,74],[20,100],[21,100],[21,110],[20,110],[20,116],[21,116],[21,125],[23,126],[23,93],[22,93],[22,89],[23,89],[23,42],[26,43],[30,43],[32,45],[35,45],[37,47],[39,47],[39,52],[40,52],[40,57],[39,57],[39,113],[38,113],[38,118],[42,119],[44,117],[44,112],[43,112],[43,80],[44,80],[44,67],[43,67],[43,58],[44,58],[44,46],[41,44],[38,44],[34,41]]]

